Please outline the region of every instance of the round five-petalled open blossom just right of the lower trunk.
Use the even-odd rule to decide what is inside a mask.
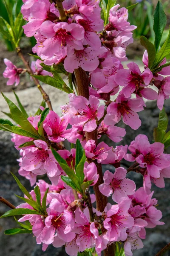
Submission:
[[[133,195],[136,190],[136,185],[133,180],[126,178],[127,171],[123,167],[115,169],[114,174],[105,171],[104,183],[99,185],[100,192],[105,196],[110,196],[115,202],[119,202],[122,197]]]

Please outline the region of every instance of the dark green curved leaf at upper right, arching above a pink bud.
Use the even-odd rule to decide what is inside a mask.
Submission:
[[[147,50],[148,54],[148,67],[150,68],[156,58],[156,49],[155,46],[144,36],[140,37],[140,42],[142,46]]]

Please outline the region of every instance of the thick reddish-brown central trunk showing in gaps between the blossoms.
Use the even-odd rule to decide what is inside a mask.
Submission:
[[[89,98],[89,82],[88,82],[88,75],[87,73],[82,70],[81,67],[74,70],[74,74],[77,81],[77,87],[79,95],[84,96],[86,99]],[[92,132],[85,132],[86,141],[88,140],[95,140],[97,144],[97,129]],[[96,208],[100,212],[103,212],[106,204],[108,202],[108,198],[105,195],[102,195],[99,191],[99,185],[103,183],[103,174],[102,174],[102,165],[101,163],[95,163],[97,167],[97,173],[99,174],[99,179],[97,183],[94,185],[94,192],[96,195]],[[115,256],[114,244],[108,246],[107,249],[104,250],[104,256]]]

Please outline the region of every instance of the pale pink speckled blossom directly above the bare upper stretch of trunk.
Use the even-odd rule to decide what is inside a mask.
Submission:
[[[67,57],[64,61],[65,70],[70,73],[73,73],[79,67],[89,72],[95,70],[99,65],[97,55],[98,51],[91,47],[79,50],[74,48],[68,49]]]

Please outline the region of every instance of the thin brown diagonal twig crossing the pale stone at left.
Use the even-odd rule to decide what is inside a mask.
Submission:
[[[29,62],[26,61],[26,59],[25,59],[25,57],[24,57],[24,55],[23,55],[23,52],[21,51],[20,47],[17,47],[16,50],[17,50],[18,56],[22,59],[23,64],[25,65],[26,69],[28,70],[28,73],[29,73],[30,75],[33,75],[33,72],[32,72],[32,70],[31,70],[31,67],[30,67],[30,65],[29,65]],[[45,90],[43,90],[43,88],[42,88],[42,86],[40,85],[39,81],[38,81],[35,77],[33,77],[33,76],[32,76],[32,79],[34,80],[35,85],[36,85],[36,86],[38,87],[38,89],[40,90],[40,93],[42,94],[43,99],[44,99],[45,102],[47,103],[48,108],[49,108],[50,110],[53,110],[53,109],[52,109],[52,106],[51,106],[51,101],[50,101],[50,99],[49,99],[49,96],[47,95],[47,93],[45,93]]]

